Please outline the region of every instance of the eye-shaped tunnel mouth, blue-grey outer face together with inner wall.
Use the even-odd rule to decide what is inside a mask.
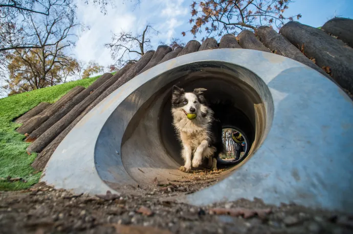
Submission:
[[[215,79],[222,85],[215,87]],[[353,102],[319,72],[248,49],[199,51],[136,76],[72,129],[41,181],[101,194],[181,173],[173,148],[178,144],[171,131],[169,137],[163,131],[170,87],[178,82],[224,91],[254,129],[250,156],[219,183],[181,198],[184,202],[257,197],[352,212]],[[139,168],[148,173],[139,174]]]

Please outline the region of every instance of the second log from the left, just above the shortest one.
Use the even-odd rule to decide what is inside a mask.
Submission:
[[[76,86],[72,90],[70,90],[67,94],[62,96],[57,102],[51,105],[49,108],[40,113],[40,115],[34,116],[27,120],[22,126],[17,128],[17,132],[20,134],[30,134],[40,126],[44,121],[49,119],[50,116],[54,115],[60,108],[65,105],[68,101],[70,101],[74,96],[79,94],[84,87]]]

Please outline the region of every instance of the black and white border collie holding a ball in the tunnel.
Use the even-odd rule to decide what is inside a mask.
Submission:
[[[216,170],[218,155],[224,151],[222,124],[213,117],[214,113],[203,95],[205,91],[197,88],[193,92],[185,92],[178,86],[172,89],[171,113],[183,147],[185,165],[180,167],[183,172],[189,172],[191,166],[200,166],[204,158],[208,158],[208,167]],[[196,114],[196,118],[189,119],[188,114]]]

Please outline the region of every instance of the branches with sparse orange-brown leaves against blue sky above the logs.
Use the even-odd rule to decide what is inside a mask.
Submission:
[[[260,25],[279,29],[286,21],[299,19],[301,14],[285,17],[291,0],[197,0],[191,4],[192,24],[189,31],[196,37],[220,37],[224,34],[237,34],[248,29],[256,31]],[[186,33],[182,32],[185,36]],[[203,38],[203,40],[204,40]]]

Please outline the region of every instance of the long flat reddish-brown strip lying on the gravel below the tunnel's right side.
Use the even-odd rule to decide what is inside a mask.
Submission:
[[[271,209],[245,209],[245,208],[235,208],[235,209],[226,209],[226,208],[213,208],[209,210],[210,215],[230,215],[234,217],[243,216],[245,219],[258,216],[261,219],[266,218],[267,214],[270,214]]]

